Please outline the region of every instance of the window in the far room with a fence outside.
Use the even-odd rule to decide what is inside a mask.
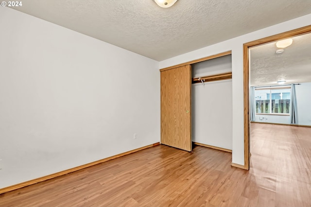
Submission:
[[[291,88],[255,88],[256,113],[289,114]]]

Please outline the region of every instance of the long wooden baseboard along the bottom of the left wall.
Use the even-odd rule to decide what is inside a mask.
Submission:
[[[17,190],[17,189],[20,189],[20,188],[23,188],[23,187],[26,187],[26,186],[30,186],[30,185],[33,185],[35,183],[39,183],[39,182],[42,182],[42,181],[46,181],[46,180],[49,180],[49,179],[52,179],[52,178],[55,178],[55,177],[58,177],[58,176],[61,176],[61,175],[64,175],[64,174],[73,173],[75,171],[82,170],[82,169],[91,167],[93,165],[97,165],[97,164],[100,164],[100,163],[103,163],[103,162],[106,162],[106,161],[109,161],[109,160],[112,160],[112,159],[115,159],[115,158],[118,158],[118,157],[121,157],[121,156],[124,156],[124,155],[129,155],[129,154],[138,152],[140,150],[144,150],[144,149],[147,149],[147,148],[150,148],[150,147],[154,147],[154,146],[157,146],[159,144],[160,143],[157,142],[157,143],[150,144],[150,145],[147,145],[147,146],[144,146],[144,147],[140,147],[140,148],[135,149],[135,150],[131,150],[131,151],[128,151],[128,152],[125,152],[125,153],[121,153],[119,155],[110,156],[110,157],[107,157],[107,158],[104,158],[104,159],[101,159],[101,160],[97,160],[97,161],[94,161],[94,162],[91,162],[91,163],[87,163],[85,165],[81,165],[81,166],[78,166],[78,167],[70,168],[70,169],[65,170],[65,171],[61,171],[61,172],[58,172],[58,173],[53,173],[53,174],[50,174],[50,175],[46,175],[46,176],[43,176],[43,177],[39,177],[39,178],[36,178],[36,179],[33,179],[33,180],[26,181],[26,182],[23,182],[23,183],[19,183],[19,184],[13,185],[13,186],[9,186],[9,187],[0,189],[0,194],[5,193],[5,192],[9,192],[9,191],[12,191],[12,190]]]

